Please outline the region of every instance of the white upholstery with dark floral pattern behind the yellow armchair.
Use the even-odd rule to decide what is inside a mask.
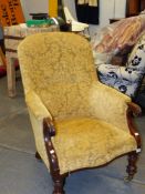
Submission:
[[[145,74],[145,34],[134,47],[125,67],[101,64],[97,72],[102,83],[134,98]]]

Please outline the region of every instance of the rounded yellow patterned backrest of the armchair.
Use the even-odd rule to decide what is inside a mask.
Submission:
[[[82,98],[96,81],[87,40],[66,32],[38,33],[25,38],[19,48],[24,92],[38,93],[54,118],[85,114]]]

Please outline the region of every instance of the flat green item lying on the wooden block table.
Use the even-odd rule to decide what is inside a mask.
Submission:
[[[48,27],[54,24],[54,21],[52,19],[45,19],[45,20],[28,20],[27,25],[28,27]]]

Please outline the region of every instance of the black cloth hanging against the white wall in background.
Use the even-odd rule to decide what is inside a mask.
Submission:
[[[97,7],[91,7],[89,4],[77,4],[77,0],[75,0],[75,9],[79,21],[90,24],[100,23],[100,2]]]

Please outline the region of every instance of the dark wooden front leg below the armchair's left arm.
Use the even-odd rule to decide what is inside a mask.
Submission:
[[[58,175],[58,176],[52,176],[53,177],[53,182],[54,182],[54,191],[53,194],[65,194],[63,186],[64,186],[64,182],[65,182],[65,177]]]

